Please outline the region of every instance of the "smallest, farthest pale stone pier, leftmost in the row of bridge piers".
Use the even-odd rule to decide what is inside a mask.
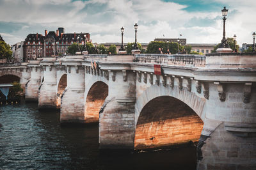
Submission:
[[[36,65],[37,64],[37,65]],[[38,101],[38,88],[40,87],[41,82],[41,71],[39,67],[39,61],[37,63],[31,63],[28,65],[30,68],[30,80],[26,84],[26,101]]]

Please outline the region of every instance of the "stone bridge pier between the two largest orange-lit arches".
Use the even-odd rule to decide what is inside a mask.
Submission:
[[[101,149],[134,148],[135,75],[126,70],[109,70],[109,95],[99,118]]]

